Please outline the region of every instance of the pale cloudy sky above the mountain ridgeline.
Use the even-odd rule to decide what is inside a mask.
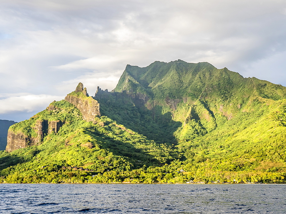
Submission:
[[[209,62],[286,86],[285,0],[0,0],[0,119],[22,121],[127,64]]]

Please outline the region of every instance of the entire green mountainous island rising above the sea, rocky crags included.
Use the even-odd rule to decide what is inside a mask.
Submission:
[[[13,125],[0,175],[6,182],[285,182],[285,129],[282,85],[207,62],[127,65],[111,92],[98,87],[89,96],[79,83]]]

